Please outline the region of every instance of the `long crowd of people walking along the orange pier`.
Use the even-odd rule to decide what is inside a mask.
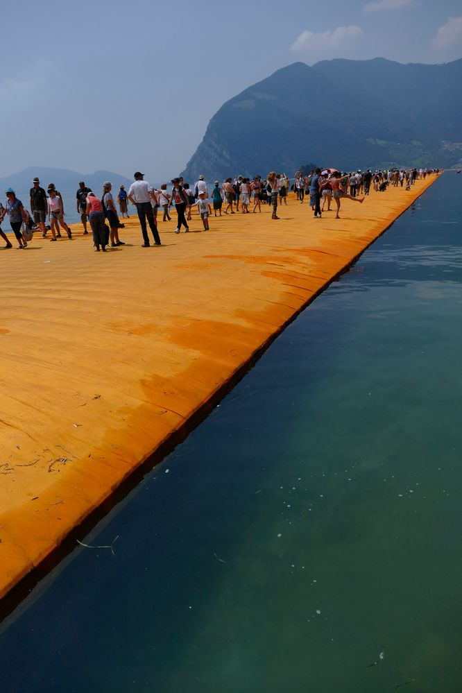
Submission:
[[[97,252],[105,252],[107,246],[115,248],[125,245],[119,238],[119,229],[124,226],[120,220],[128,218],[128,203],[131,203],[137,209],[143,237],[142,248],[148,248],[151,245],[148,226],[155,246],[161,245],[157,229],[157,214],[160,209],[162,222],[171,221],[170,212],[172,208],[175,209],[176,234],[180,233],[182,228],[185,233],[189,232],[189,221],[192,219],[194,208],[200,217],[203,230],[208,231],[212,209],[214,216],[221,216],[222,212],[226,215],[256,214],[262,212],[262,205],[269,205],[271,219],[280,219],[277,216],[278,205],[287,205],[289,191],[292,190],[298,203],[303,204],[305,200],[309,200],[314,219],[322,219],[324,212],[330,212],[332,200],[335,203],[335,219],[340,219],[342,199],[362,204],[371,188],[375,192],[384,192],[388,185],[405,186],[405,189],[410,190],[418,178],[425,179],[429,173],[439,173],[439,169],[359,169],[346,173],[336,169],[318,168],[309,173],[296,171],[291,179],[285,173],[271,171],[266,179],[261,176],[255,176],[253,179],[237,176],[234,179],[226,178],[221,184],[219,180],[215,180],[211,189],[204,176],[199,176],[192,188],[182,178],[173,178],[169,191],[166,183],[156,188],[144,180],[144,173],[136,171],[133,176],[134,182],[128,191],[121,185],[115,200],[110,181],[103,184],[101,196],[96,196],[92,189],[85,185],[85,181],[80,181],[76,193],[76,207],[83,225],[83,233],[88,234],[89,223],[94,248]],[[68,239],[72,239],[71,229],[65,221],[62,194],[54,183],[49,183],[45,191],[40,186],[39,178],[33,179],[29,200],[30,213],[12,188],[6,191],[6,198],[6,206],[0,204],[0,224],[8,214],[19,249],[26,248],[33,232],[41,232],[43,238],[50,232],[50,240],[56,241],[62,238],[62,230]],[[12,248],[12,243],[1,227],[0,236],[6,241],[6,248]]]

